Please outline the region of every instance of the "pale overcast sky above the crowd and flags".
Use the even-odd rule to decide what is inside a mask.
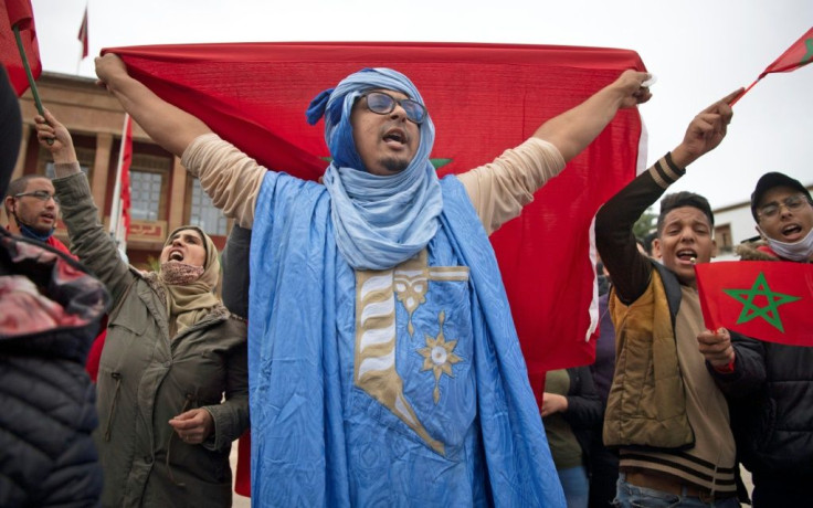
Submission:
[[[94,76],[76,34],[88,4],[103,47],[196,42],[434,41],[637,51],[657,76],[641,106],[652,163],[700,109],[749,85],[813,25],[812,0],[32,0],[45,71]],[[47,97],[43,98],[47,102]],[[303,110],[306,105],[303,104]],[[735,106],[728,138],[671,190],[714,208],[747,201],[760,174],[813,183],[813,65],[769,74]]]

